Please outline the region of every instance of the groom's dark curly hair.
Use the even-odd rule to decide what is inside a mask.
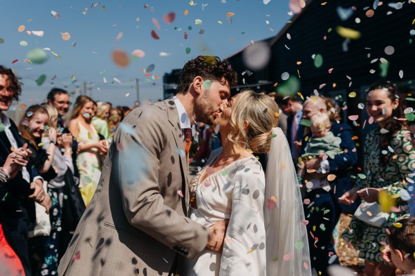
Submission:
[[[230,68],[228,61],[221,61],[219,57],[199,56],[187,61],[183,70],[181,70],[178,77],[177,91],[185,94],[189,90],[193,79],[197,76],[202,77],[205,81],[219,81],[223,85],[225,84],[223,78],[225,78],[230,87],[235,86],[238,82],[237,72]]]

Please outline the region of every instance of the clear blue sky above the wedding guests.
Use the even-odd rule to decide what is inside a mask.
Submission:
[[[75,91],[76,86],[82,88],[83,82],[87,81],[93,99],[132,106],[136,100],[136,78],[140,79],[140,101],[154,101],[163,97],[165,72],[183,67],[186,61],[198,55],[229,57],[250,41],[275,36],[291,17],[288,1],[281,0],[271,0],[267,4],[264,0],[97,3],[0,0],[0,42],[3,39],[0,64],[13,68],[21,77],[24,83],[21,103],[30,105],[32,99],[41,102],[53,86],[67,86],[67,90]],[[91,9],[91,5],[95,7]],[[59,17],[56,19],[52,12],[57,12]],[[163,20],[169,12],[176,14],[173,23]],[[234,15],[227,17],[228,12]],[[160,30],[153,19],[158,21]],[[201,25],[196,25],[196,19],[201,20]],[[23,32],[18,30],[21,25],[25,26]],[[201,28],[203,34],[199,34]],[[44,31],[44,36],[26,33],[33,30]],[[151,37],[151,30],[155,30],[160,39]],[[64,32],[71,34],[71,39],[62,39]],[[21,46],[21,41],[28,45]],[[24,62],[33,48],[50,49],[46,50],[46,63]],[[190,48],[189,54],[186,48]],[[129,55],[129,66],[119,67],[113,62],[111,52],[115,49]],[[144,51],[145,57],[133,58],[131,52],[137,49]],[[167,56],[160,56],[160,52]],[[16,59],[18,61],[12,63]],[[145,77],[142,69],[151,64],[154,64],[151,73],[160,79]],[[36,80],[41,75],[46,75],[46,81],[38,86]]]

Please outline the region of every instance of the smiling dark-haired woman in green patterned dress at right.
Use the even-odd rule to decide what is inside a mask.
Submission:
[[[382,227],[353,217],[342,237],[360,250],[359,257],[365,259],[365,275],[387,276],[395,275],[394,268],[387,266],[380,251],[387,243],[386,228],[398,219],[409,217],[407,201],[400,199],[400,191],[406,190],[406,178],[415,168],[415,150],[407,135],[403,97],[399,97],[396,87],[382,81],[368,91],[369,124],[373,121],[378,128],[366,137],[365,167],[356,187],[344,193],[340,201],[351,204],[360,197],[367,203],[376,202],[380,191],[384,190],[391,198],[396,198],[397,207],[390,209],[387,224]]]

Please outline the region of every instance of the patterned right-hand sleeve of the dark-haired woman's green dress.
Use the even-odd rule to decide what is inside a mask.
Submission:
[[[400,193],[401,189],[407,188],[407,177],[415,170],[415,149],[412,146],[412,142],[403,135],[402,130],[392,139],[390,147],[393,152],[393,157],[390,160],[390,170],[396,172],[399,175],[399,181],[385,186],[385,190],[391,194]]]

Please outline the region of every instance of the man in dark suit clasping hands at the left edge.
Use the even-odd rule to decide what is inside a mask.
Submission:
[[[0,166],[11,152],[23,146],[17,126],[4,114],[10,108],[12,99],[19,99],[20,92],[19,80],[12,70],[0,66]],[[32,275],[28,253],[29,222],[35,219],[34,201],[49,210],[50,197],[44,192],[42,177],[28,167],[23,167],[13,179],[8,179],[5,187],[6,196],[0,201],[0,222],[6,239],[23,264],[25,274]]]

